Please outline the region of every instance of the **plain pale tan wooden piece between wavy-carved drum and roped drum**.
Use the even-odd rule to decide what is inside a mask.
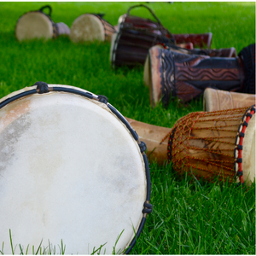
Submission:
[[[204,111],[242,108],[255,104],[255,95],[207,88],[203,96]]]

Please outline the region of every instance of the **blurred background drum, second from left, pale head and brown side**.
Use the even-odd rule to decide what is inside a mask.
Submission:
[[[73,21],[70,38],[73,42],[111,41],[114,27],[101,15],[84,14]]]

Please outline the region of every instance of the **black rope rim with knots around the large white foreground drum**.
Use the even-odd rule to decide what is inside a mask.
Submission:
[[[51,85],[51,86],[48,86],[48,85]],[[125,254],[128,254],[131,252],[131,249],[135,246],[137,239],[139,238],[143,230],[143,226],[146,222],[147,215],[148,213],[152,212],[152,208],[153,208],[152,205],[149,203],[150,196],[151,196],[151,181],[150,181],[150,172],[149,172],[149,166],[148,166],[148,158],[147,158],[147,154],[145,154],[145,150],[147,149],[146,144],[139,140],[137,132],[133,130],[130,123],[125,119],[125,117],[121,113],[119,113],[119,111],[116,108],[114,108],[110,103],[108,103],[108,98],[106,96],[95,95],[93,93],[90,93],[87,90],[83,90],[81,88],[74,87],[71,85],[46,84],[44,82],[35,83],[30,87],[25,87],[21,90],[17,90],[15,92],[10,93],[7,96],[4,96],[2,99],[0,99],[0,109],[8,105],[10,102],[15,102],[16,100],[24,96],[31,96],[33,94],[44,94],[44,93],[48,93],[49,91],[72,93],[75,95],[84,96],[85,98],[90,100],[95,100],[96,102],[102,102],[106,104],[106,107],[109,109],[109,111],[113,113],[116,116],[116,118],[119,119],[119,121],[121,121],[121,123],[123,123],[123,125],[125,125],[125,127],[130,131],[131,137],[134,138],[138,147],[140,148],[140,153],[141,153],[141,157],[144,164],[145,177],[146,177],[146,183],[147,183],[146,201],[143,204],[143,211],[142,211],[143,215],[142,215],[141,221],[140,223],[137,224],[136,236],[131,238],[131,240],[128,241],[127,245],[125,246],[125,249],[126,249]]]

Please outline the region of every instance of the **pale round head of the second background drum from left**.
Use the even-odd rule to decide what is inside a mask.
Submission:
[[[73,42],[104,41],[105,29],[102,21],[95,15],[84,14],[73,21],[70,30],[70,38]]]

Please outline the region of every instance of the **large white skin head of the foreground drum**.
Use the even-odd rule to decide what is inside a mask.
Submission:
[[[0,109],[0,150],[4,253],[12,253],[9,230],[15,253],[19,245],[32,253],[41,241],[57,253],[62,240],[68,254],[105,243],[101,253],[109,254],[123,230],[115,250],[129,246],[143,218],[145,167],[131,132],[106,104],[65,92],[10,102]]]

